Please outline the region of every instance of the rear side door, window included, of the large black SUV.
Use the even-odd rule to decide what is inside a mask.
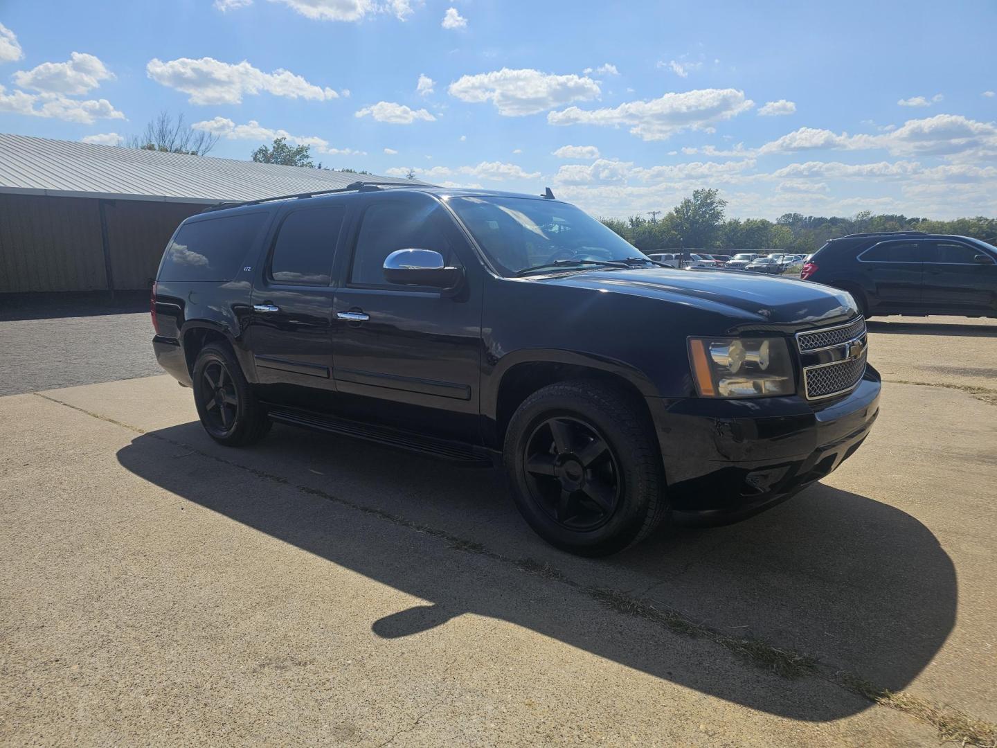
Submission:
[[[248,340],[261,395],[315,406],[332,391],[332,266],[341,204],[290,207],[278,217],[252,291]]]

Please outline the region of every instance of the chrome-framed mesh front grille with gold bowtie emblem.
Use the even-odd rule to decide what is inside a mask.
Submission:
[[[853,390],[865,373],[865,320],[797,333],[803,359],[804,395],[808,400],[843,395]]]

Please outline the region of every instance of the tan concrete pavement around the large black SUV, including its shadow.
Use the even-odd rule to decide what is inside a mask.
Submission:
[[[935,338],[939,366],[997,367],[993,337],[922,330],[872,333],[887,379],[924,376]],[[489,471],[279,426],[217,447],[167,377],[0,399],[0,738],[937,742],[837,670],[997,721],[994,406],[948,374],[887,384],[824,485],[603,561],[544,546]],[[593,590],[822,669],[775,675]]]

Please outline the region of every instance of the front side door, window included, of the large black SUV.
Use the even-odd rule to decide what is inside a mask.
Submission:
[[[358,416],[438,436],[479,438],[482,273],[443,205],[422,193],[367,195],[344,252],[333,319],[340,398]],[[394,285],[385,258],[433,249],[464,268],[458,289]]]

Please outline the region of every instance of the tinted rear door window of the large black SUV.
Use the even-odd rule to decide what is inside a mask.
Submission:
[[[278,283],[329,285],[344,213],[345,208],[339,205],[289,213],[273,245],[270,277]]]

